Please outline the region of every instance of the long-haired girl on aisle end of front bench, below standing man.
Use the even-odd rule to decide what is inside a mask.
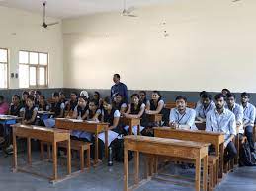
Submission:
[[[113,107],[110,97],[103,99],[102,122],[109,123],[108,130],[108,146],[119,136],[121,127],[119,126],[120,111]],[[99,134],[99,159],[102,159],[104,154],[105,133]]]

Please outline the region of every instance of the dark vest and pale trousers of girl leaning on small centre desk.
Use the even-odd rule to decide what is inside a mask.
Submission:
[[[137,115],[144,108],[145,108],[144,103],[138,103],[137,107],[135,107],[135,105],[133,103],[131,103],[130,104],[130,114]],[[141,118],[141,121],[140,121],[139,131],[141,132],[145,128],[145,125],[147,124],[147,118],[146,118],[145,112],[142,114],[142,116],[140,118]],[[128,125],[125,126],[124,129],[128,132],[129,126]],[[132,127],[132,133],[134,135],[137,135],[137,126]]]

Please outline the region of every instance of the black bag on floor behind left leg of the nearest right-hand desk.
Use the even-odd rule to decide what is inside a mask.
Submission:
[[[116,161],[124,162],[124,138],[116,138],[112,143],[111,147],[113,148],[113,158]],[[131,151],[128,151],[128,160],[130,161],[133,158]]]

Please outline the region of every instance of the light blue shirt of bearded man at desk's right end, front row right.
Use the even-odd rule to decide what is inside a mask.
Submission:
[[[225,140],[231,135],[236,135],[234,114],[226,108],[224,108],[221,114],[216,109],[209,111],[206,120],[206,131],[223,132]]]

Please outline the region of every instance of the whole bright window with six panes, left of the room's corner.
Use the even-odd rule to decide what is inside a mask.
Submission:
[[[48,54],[42,52],[19,52],[20,88],[47,86]]]

